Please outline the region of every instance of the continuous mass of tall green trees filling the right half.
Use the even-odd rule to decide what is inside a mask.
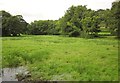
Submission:
[[[80,37],[98,37],[101,27],[109,28],[112,35],[119,33],[119,2],[114,2],[111,10],[87,9],[86,6],[71,6],[59,19],[61,34],[70,35],[78,30]],[[70,35],[72,36],[72,35]]]

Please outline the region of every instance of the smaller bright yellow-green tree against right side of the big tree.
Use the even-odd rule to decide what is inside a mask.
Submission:
[[[99,17],[93,16],[93,17],[85,17],[81,20],[82,22],[82,28],[83,33],[82,36],[88,37],[91,36],[97,36],[97,33],[99,32]]]

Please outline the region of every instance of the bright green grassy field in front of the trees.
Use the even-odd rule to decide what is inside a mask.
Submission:
[[[3,37],[2,45],[3,67],[27,66],[34,80],[118,80],[114,37]]]

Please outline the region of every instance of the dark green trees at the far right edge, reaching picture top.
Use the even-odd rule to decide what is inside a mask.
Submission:
[[[119,36],[120,1],[112,3],[111,9],[99,10],[97,15],[101,18],[101,26],[108,28],[111,35]]]

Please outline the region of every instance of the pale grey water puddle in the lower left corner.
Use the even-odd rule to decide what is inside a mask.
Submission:
[[[21,66],[21,67],[16,67],[16,68],[3,68],[2,74],[0,76],[0,82],[1,81],[18,81],[16,78],[16,74],[20,73],[26,73],[28,70]]]

